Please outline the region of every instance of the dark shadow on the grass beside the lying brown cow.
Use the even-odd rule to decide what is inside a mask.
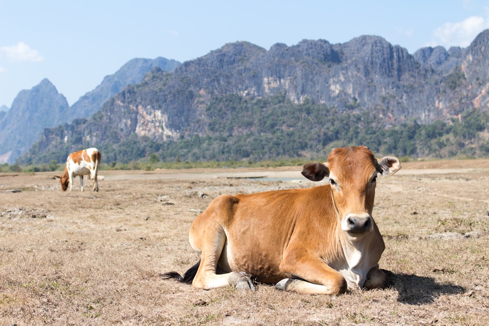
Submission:
[[[432,304],[441,294],[464,293],[463,286],[437,283],[430,277],[414,274],[387,274],[387,286],[398,291],[398,302],[405,304]]]

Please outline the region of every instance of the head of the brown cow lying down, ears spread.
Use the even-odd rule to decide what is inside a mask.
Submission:
[[[373,230],[377,175],[395,174],[400,167],[397,157],[376,159],[368,148],[361,146],[334,149],[328,162],[306,164],[302,174],[312,181],[329,177],[341,229],[358,237]]]

